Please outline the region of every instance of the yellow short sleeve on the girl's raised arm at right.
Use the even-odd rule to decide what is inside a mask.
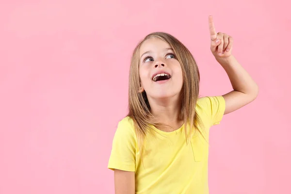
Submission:
[[[197,101],[203,111],[206,113],[210,125],[217,125],[223,118],[226,109],[226,102],[224,97],[202,97]]]

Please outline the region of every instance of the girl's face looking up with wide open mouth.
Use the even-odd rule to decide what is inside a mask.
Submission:
[[[181,65],[171,46],[160,38],[147,39],[140,48],[141,91],[147,98],[175,97],[183,85]]]

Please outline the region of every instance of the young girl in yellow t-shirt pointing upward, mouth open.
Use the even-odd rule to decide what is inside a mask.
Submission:
[[[115,194],[208,194],[209,129],[253,101],[258,86],[231,54],[232,37],[215,32],[210,50],[233,91],[198,98],[199,71],[170,34],[151,33],[133,52],[129,114],[118,124],[108,168]]]

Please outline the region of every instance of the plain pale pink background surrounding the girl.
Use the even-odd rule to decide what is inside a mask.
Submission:
[[[210,53],[209,14],[260,88],[211,130],[210,194],[291,193],[291,16],[275,2],[2,0],[0,194],[113,194],[107,163],[141,38],[177,36],[202,96],[231,89]]]

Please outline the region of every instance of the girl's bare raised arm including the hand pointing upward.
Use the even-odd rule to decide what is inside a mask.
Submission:
[[[258,96],[259,87],[231,54],[232,37],[226,33],[216,33],[212,16],[209,16],[209,30],[210,50],[216,61],[225,69],[233,88],[233,91],[223,95],[226,101],[225,114],[227,114],[252,102]]]

